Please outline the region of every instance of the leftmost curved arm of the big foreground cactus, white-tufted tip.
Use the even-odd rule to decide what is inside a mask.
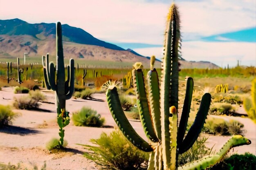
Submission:
[[[115,86],[108,87],[106,92],[108,106],[112,117],[124,136],[137,148],[145,152],[153,151],[153,148],[144,139],[142,139],[137,132],[132,128],[130,122],[124,115],[120,99],[118,97],[117,88]]]

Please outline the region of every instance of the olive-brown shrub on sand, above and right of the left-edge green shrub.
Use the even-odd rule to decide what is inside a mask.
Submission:
[[[13,97],[13,99],[13,106],[17,109],[31,110],[38,108],[39,106],[38,101],[32,99],[30,96],[22,96],[19,98]]]

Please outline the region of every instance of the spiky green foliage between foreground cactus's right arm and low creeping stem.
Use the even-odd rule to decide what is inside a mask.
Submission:
[[[178,166],[182,166],[186,163],[201,159],[206,155],[210,155],[212,153],[212,148],[210,149],[205,146],[207,139],[208,138],[206,137],[202,137],[202,139],[199,137],[187,152],[179,155]]]

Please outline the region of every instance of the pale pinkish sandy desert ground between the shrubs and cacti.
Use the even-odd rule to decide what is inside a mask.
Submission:
[[[44,92],[47,102],[54,102],[54,93]],[[24,94],[13,94],[13,88],[2,88],[0,91],[0,104],[12,104],[13,97]],[[68,141],[67,151],[52,153],[45,149],[47,141],[58,137],[58,125],[56,124],[56,113],[54,104],[42,103],[40,108],[49,110],[30,111],[14,110],[20,113],[20,117],[13,121],[13,125],[0,130],[0,163],[23,163],[26,166],[37,165],[38,168],[46,163],[49,170],[97,170],[96,164],[83,157],[86,150],[77,144],[91,144],[90,139],[99,138],[101,132],[110,133],[115,126],[104,94],[95,94],[96,100],[70,99],[67,100],[66,109],[71,113],[83,106],[89,106],[106,119],[105,128],[76,127],[71,123],[65,127],[65,140]],[[256,125],[248,118],[224,117],[225,119],[237,119],[245,125],[245,136],[252,141],[249,146],[234,148],[234,152],[250,152],[256,155]],[[46,125],[47,124],[47,125]],[[135,130],[145,138],[140,122],[131,121]],[[230,137],[209,136],[207,146],[220,149]]]

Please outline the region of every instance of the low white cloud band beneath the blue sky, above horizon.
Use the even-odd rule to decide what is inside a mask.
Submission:
[[[156,55],[161,59],[162,47],[134,49],[141,55]],[[189,61],[209,61],[218,66],[236,66],[237,60],[247,66],[256,64],[256,44],[246,42],[200,42],[182,43],[182,57]]]

